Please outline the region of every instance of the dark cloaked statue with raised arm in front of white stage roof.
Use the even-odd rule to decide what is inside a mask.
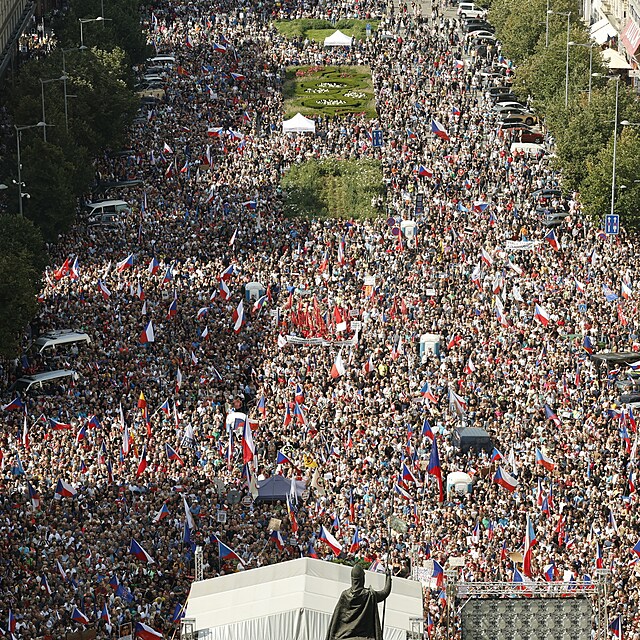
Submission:
[[[340,594],[331,617],[326,640],[382,640],[378,602],[391,593],[391,573],[382,591],[364,588],[364,570],[356,564],[351,569],[351,588]]]

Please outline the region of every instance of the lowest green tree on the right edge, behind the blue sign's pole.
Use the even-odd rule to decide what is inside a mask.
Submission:
[[[600,220],[611,210],[613,136],[597,156],[587,160],[587,175],[580,193],[585,213]],[[640,132],[622,127],[616,151],[614,212],[627,229],[640,228]]]

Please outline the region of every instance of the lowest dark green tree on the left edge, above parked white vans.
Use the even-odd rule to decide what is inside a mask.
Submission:
[[[36,313],[46,253],[31,221],[1,215],[0,225],[0,356],[12,357],[19,352],[24,329]]]

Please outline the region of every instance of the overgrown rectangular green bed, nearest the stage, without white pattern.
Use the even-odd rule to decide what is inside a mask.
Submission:
[[[379,214],[371,199],[384,194],[382,167],[376,160],[308,160],[287,171],[282,188],[288,217],[371,218]]]

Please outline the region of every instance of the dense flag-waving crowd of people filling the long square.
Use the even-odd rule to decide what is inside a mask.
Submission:
[[[78,377],[24,407],[5,398],[0,637],[90,625],[108,638],[128,622],[171,636],[196,545],[205,577],[309,555],[435,575],[464,556],[461,581],[511,581],[529,519],[525,580],[610,568],[609,617],[640,638],[636,427],[619,399],[633,372],[589,358],[640,346],[635,239],[604,236],[578,194],[536,195],[560,176],[511,152],[482,63],[443,9],[150,7],[150,41],[177,65],[133,153],[96,161],[102,180],[143,183],[118,194],[133,205],[121,228],[79,223],[61,238],[30,328],[91,344],[27,352],[13,377]],[[273,26],[302,17],[380,24],[345,53]],[[315,134],[283,135],[292,64],[370,67],[378,118],[318,116]],[[283,216],[282,175],[327,157],[380,160],[378,219]],[[548,207],[568,213],[551,235]],[[396,235],[403,219],[415,242]],[[423,334],[440,336],[432,351]],[[464,426],[493,450],[460,451]],[[473,490],[441,496],[438,473],[446,484],[455,471]],[[275,474],[306,491],[238,501]],[[425,620],[442,638],[442,585],[428,577]]]

